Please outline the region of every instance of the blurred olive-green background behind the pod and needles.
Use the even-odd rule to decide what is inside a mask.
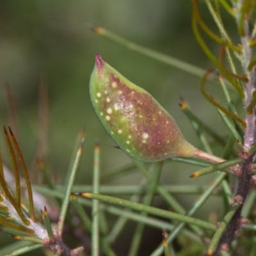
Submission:
[[[102,172],[131,163],[121,150],[112,147],[113,141],[102,129],[90,104],[88,84],[97,52],[125,77],[154,95],[194,145],[200,147],[191,124],[179,109],[180,95],[205,123],[216,127],[221,134],[227,133],[215,109],[200,94],[200,77],[113,44],[86,27],[86,23],[91,22],[132,42],[207,69],[211,63],[193,36],[191,9],[191,1],[184,0],[1,1],[0,124],[9,124],[5,90],[8,82],[17,107],[20,148],[28,166],[35,157],[38,84],[42,75],[46,77],[49,90],[47,168],[52,179],[63,184],[77,131],[83,126],[86,139],[77,184],[91,183],[96,139],[101,145]],[[211,17],[204,7],[202,16],[211,26]],[[218,53],[219,46],[209,44]],[[210,91],[216,95],[220,89],[211,87]],[[3,136],[0,138],[1,151],[6,157],[5,141]],[[194,170],[184,164],[168,164],[161,180],[163,184],[209,184],[211,175],[198,180],[188,179]],[[132,173],[111,182],[134,184],[138,177],[141,177],[139,173]],[[179,199],[186,209],[193,204],[189,196]],[[219,208],[217,201],[210,201],[202,212],[208,214]],[[159,236],[157,243],[160,239]]]

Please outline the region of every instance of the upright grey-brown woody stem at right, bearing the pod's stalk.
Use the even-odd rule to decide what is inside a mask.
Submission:
[[[244,113],[245,113],[245,122],[246,127],[244,129],[244,142],[243,150],[240,154],[243,163],[241,164],[241,175],[238,176],[237,191],[234,196],[234,203],[240,204],[241,206],[237,209],[236,213],[232,217],[232,220],[228,223],[228,226],[221,236],[220,243],[218,244],[216,251],[213,254],[218,256],[223,252],[228,252],[230,244],[234,239],[236,232],[241,228],[241,211],[243,208],[244,200],[248,195],[248,192],[255,184],[251,173],[253,170],[253,157],[254,154],[250,154],[250,150],[255,143],[255,106],[252,105],[253,101],[253,92],[255,92],[255,70],[254,68],[248,68],[249,64],[252,61],[252,49],[250,48],[250,36],[249,36],[249,26],[248,20],[246,19],[247,15],[244,13],[246,7],[244,7],[243,1],[237,1],[237,26],[239,28],[239,34],[241,35],[241,45],[243,47],[242,51],[242,67],[244,74],[248,77],[248,82],[245,85],[244,90]],[[248,111],[248,107],[250,111]],[[233,206],[232,205],[232,206]]]

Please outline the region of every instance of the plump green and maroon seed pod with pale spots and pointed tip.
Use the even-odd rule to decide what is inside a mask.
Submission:
[[[129,156],[144,162],[193,156],[195,147],[184,139],[172,116],[100,54],[90,79],[90,97],[101,124]]]

